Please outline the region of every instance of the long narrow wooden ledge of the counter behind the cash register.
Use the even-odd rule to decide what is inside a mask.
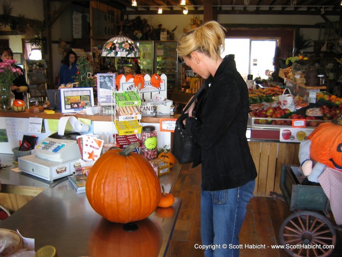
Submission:
[[[12,111],[8,112],[0,112],[0,117],[12,117],[12,118],[29,118],[29,117],[39,117],[39,118],[45,118],[45,119],[60,119],[64,116],[75,116],[76,118],[85,118],[90,119],[92,121],[111,121],[112,117],[110,115],[107,116],[100,116],[98,114],[96,115],[82,115],[82,114],[62,114],[60,112],[56,112],[54,114],[46,114],[44,112],[42,113],[30,113],[28,110],[21,113],[16,113]],[[143,116],[140,120],[140,122],[143,123],[159,123],[160,118],[178,118],[180,115],[175,114],[174,116],[171,115],[158,115],[157,117],[153,116]],[[114,118],[114,117],[113,117]]]

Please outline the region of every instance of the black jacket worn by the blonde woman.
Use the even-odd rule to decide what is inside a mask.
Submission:
[[[240,187],[257,175],[246,138],[247,85],[234,55],[208,79],[211,85],[198,96],[195,117],[186,119],[186,130],[199,145],[193,166],[202,163],[203,190]]]

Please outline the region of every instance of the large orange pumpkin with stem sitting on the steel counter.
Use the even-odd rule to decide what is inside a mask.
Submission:
[[[138,143],[123,151],[108,150],[92,166],[85,184],[91,207],[112,222],[147,218],[161,197],[159,179],[150,162],[132,153]]]

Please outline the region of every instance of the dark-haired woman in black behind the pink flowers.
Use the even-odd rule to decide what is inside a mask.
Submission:
[[[2,60],[12,60],[13,51],[10,47],[4,47],[0,50],[0,62]],[[11,85],[11,91],[14,93],[15,99],[23,100],[24,92],[28,92],[28,85],[25,79],[25,75],[20,66],[16,65],[16,68],[20,69],[22,74],[13,80],[13,85]]]

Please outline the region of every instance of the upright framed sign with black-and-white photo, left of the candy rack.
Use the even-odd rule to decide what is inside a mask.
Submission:
[[[97,74],[97,101],[99,103],[114,102],[112,92],[116,91],[115,73]]]

